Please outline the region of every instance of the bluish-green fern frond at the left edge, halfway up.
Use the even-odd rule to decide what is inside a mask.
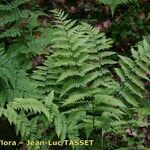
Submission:
[[[35,83],[27,77],[27,73],[20,67],[18,62],[0,50],[0,105],[5,105],[14,97],[39,97]]]

